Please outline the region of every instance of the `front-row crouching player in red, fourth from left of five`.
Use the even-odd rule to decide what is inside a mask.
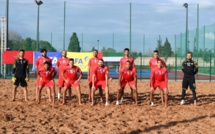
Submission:
[[[138,103],[138,93],[137,93],[137,72],[136,68],[132,67],[131,62],[128,60],[126,61],[125,68],[120,70],[119,74],[119,90],[117,92],[117,101],[116,105],[119,105],[119,99],[122,96],[122,93],[125,89],[126,84],[130,86],[132,91],[132,97],[135,100],[135,104]]]

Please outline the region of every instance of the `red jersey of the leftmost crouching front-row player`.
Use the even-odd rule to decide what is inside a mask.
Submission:
[[[48,70],[41,69],[38,71],[40,77],[42,77],[43,81],[50,81],[53,79],[54,74],[56,74],[56,70],[53,67],[50,67]]]

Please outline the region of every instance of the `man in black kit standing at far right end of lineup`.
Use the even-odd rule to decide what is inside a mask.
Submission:
[[[187,53],[187,59],[182,63],[182,71],[184,73],[184,78],[182,82],[182,97],[181,105],[184,104],[184,98],[186,96],[186,90],[189,88],[193,92],[194,105],[196,106],[196,84],[195,75],[198,72],[198,65],[192,60],[192,53]]]

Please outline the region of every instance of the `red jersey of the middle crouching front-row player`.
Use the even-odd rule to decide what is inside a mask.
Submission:
[[[95,75],[95,81],[105,81],[106,80],[106,75],[109,74],[108,72],[108,67],[107,66],[103,66],[103,67],[99,67],[97,65],[97,67],[94,69],[93,74]]]

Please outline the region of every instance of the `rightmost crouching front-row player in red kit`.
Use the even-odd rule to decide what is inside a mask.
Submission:
[[[151,85],[151,92],[150,92],[150,102],[151,106],[154,105],[154,91],[156,88],[160,88],[162,92],[165,94],[165,107],[167,107],[168,101],[168,72],[165,67],[163,67],[162,61],[157,61],[157,67],[154,68],[151,72],[150,76],[150,85]]]

